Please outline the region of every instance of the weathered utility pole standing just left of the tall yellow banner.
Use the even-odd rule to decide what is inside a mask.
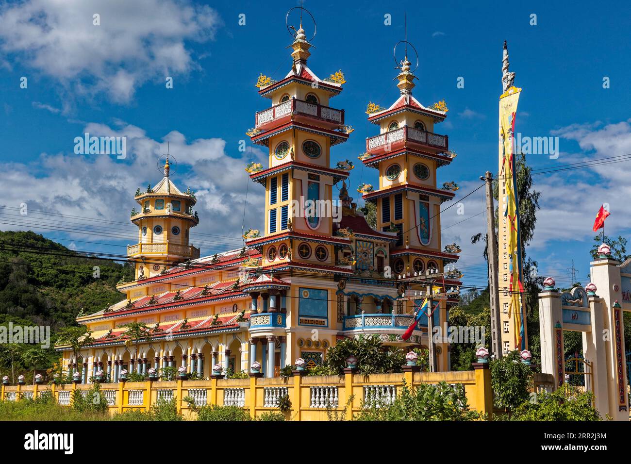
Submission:
[[[495,236],[495,206],[493,205],[493,175],[487,171],[480,177],[487,184],[487,258],[488,292],[491,299],[491,352],[495,359],[502,357],[502,333],[500,332],[500,292],[497,270],[497,237]]]

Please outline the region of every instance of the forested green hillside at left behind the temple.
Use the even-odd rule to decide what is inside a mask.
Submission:
[[[50,367],[59,358],[52,350],[57,331],[76,325],[82,310],[90,314],[123,299],[115,289],[121,277],[133,277],[129,264],[76,253],[30,231],[0,232],[0,326],[49,326],[52,339],[47,350],[2,343],[0,373]]]

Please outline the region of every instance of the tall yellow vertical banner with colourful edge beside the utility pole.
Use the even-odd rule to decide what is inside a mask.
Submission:
[[[517,198],[517,167],[513,153],[515,115],[521,88],[511,86],[500,97],[500,146],[499,155],[502,160],[500,181],[505,183],[504,215],[507,223],[507,253],[509,254],[509,318],[513,319],[514,348],[528,348],[526,337],[526,300],[523,285],[523,263],[521,241],[519,240],[519,200]],[[502,186],[500,184],[500,192]]]

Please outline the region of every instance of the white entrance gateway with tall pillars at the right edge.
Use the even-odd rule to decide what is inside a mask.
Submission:
[[[593,391],[603,418],[628,420],[622,316],[631,311],[631,259],[618,263],[604,244],[598,251],[599,258],[590,263],[592,282],[585,288],[558,292],[553,278],[544,281],[539,294],[541,372],[553,374],[557,386],[569,383]],[[563,330],[582,333],[582,357],[565,359]]]

